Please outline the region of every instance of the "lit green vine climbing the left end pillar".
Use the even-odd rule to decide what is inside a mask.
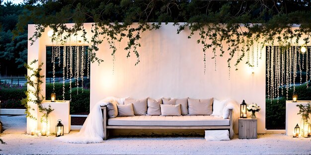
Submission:
[[[37,69],[34,69],[31,67],[31,65],[37,63],[38,60],[34,60],[30,63],[30,65],[24,64],[25,68],[32,72],[30,76],[26,75],[25,78],[27,79],[26,84],[29,86],[29,88],[25,91],[26,98],[21,100],[21,104],[25,106],[26,111],[26,117],[37,120],[35,116],[31,114],[31,110],[35,110],[34,108],[31,108],[28,102],[35,103],[38,105],[39,112],[42,113],[41,117],[41,122],[47,123],[49,114],[54,110],[51,108],[51,105],[49,105],[47,108],[42,106],[42,101],[44,100],[44,96],[41,94],[41,88],[40,85],[43,83],[41,80],[45,76],[41,76],[40,72],[42,70],[42,65],[41,63]],[[30,94],[33,94],[34,97],[31,97]]]

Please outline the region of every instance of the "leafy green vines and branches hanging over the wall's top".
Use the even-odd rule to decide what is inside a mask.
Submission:
[[[260,48],[266,44],[290,46],[300,40],[309,44],[311,35],[311,2],[307,0],[26,0],[26,4],[31,13],[20,16],[15,34],[27,23],[34,23],[32,42],[51,27],[52,41],[65,43],[81,31],[84,42],[90,44],[92,62],[98,63],[103,62],[96,57],[99,44],[108,43],[115,59],[116,43],[126,40],[127,46],[120,51],[127,52],[127,57],[134,54],[135,65],[139,64],[141,34],[168,22],[174,23],[177,33],[190,29],[188,38],[199,34],[195,39],[202,45],[204,62],[206,52],[213,52],[215,65],[216,57],[228,54],[229,69],[232,63],[237,66],[255,43]],[[91,40],[86,40],[85,22],[93,23]],[[75,24],[67,27],[65,23]],[[254,66],[249,61],[246,64]]]

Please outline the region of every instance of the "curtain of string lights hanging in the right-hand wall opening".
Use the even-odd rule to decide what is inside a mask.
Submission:
[[[306,50],[302,50],[305,48]],[[296,84],[307,83],[311,78],[311,47],[310,46],[266,46],[266,84],[268,99],[279,99],[289,90],[295,92]],[[303,73],[306,74],[303,74]],[[284,96],[285,97],[285,96]]]

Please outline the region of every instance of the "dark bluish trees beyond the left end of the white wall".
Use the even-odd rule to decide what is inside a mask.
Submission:
[[[19,15],[26,11],[22,4],[0,4],[0,77],[26,74],[27,25],[24,32],[13,35]]]

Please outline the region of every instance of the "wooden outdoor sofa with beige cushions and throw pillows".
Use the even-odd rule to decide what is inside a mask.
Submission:
[[[220,129],[233,138],[233,109],[209,99],[125,99],[102,106],[104,140],[113,129]]]

